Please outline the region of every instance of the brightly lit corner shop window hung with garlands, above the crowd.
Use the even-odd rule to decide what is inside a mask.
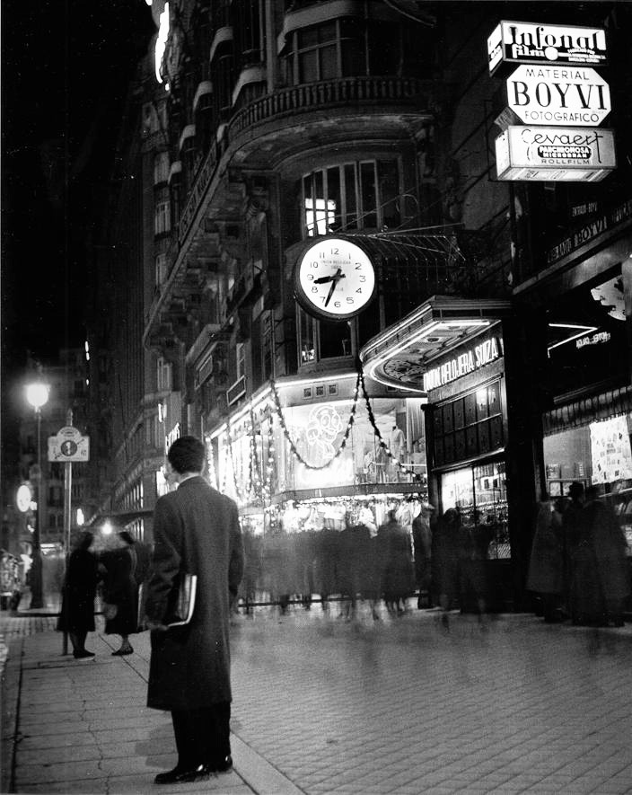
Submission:
[[[283,416],[288,438],[276,418],[255,429],[233,431],[230,444],[218,438],[216,481],[240,505],[290,490],[371,484],[427,482],[426,438],[417,400],[375,398],[375,434],[364,402],[359,402],[348,432],[352,402],[312,402],[288,406]],[[391,455],[389,455],[391,454]],[[302,460],[301,460],[302,459]],[[306,466],[310,464],[311,466]],[[313,467],[313,468],[312,468]]]

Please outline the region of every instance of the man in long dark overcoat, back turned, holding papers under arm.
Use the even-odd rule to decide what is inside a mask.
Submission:
[[[147,706],[171,711],[178,764],[157,784],[192,782],[230,770],[232,600],[243,576],[237,506],[202,477],[205,446],[180,437],[169,448],[167,474],[178,489],[154,509],[152,577],[146,622],[151,632]],[[197,575],[190,623],[167,629],[180,572]]]

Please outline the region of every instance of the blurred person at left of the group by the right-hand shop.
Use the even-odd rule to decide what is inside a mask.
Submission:
[[[559,599],[564,584],[562,515],[548,494],[538,504],[527,589],[540,595],[544,620],[561,621]]]

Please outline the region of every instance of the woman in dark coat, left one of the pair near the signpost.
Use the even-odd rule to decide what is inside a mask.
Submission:
[[[90,551],[93,538],[92,533],[84,531],[70,553],[57,623],[57,630],[68,633],[75,659],[94,657],[94,652],[85,648],[88,632],[94,632],[94,597],[99,581],[99,564]]]

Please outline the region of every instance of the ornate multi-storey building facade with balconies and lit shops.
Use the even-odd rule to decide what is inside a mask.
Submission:
[[[594,480],[586,434],[628,417],[628,314],[606,313],[612,329],[588,316],[628,257],[628,10],[159,0],[152,13],[121,139],[127,193],[100,255],[108,507],[149,537],[129,512],[152,508],[164,448],[190,433],[259,560],[293,539],[281,593],[317,585],[297,552],[314,539],[389,510],[409,524],[430,499],[486,526],[496,603],[522,604],[540,488]],[[487,37],[501,19],[606,31],[618,167],[602,181],[499,178],[508,100]],[[300,295],[320,241],[370,263],[361,312]],[[265,575],[257,587],[278,590]]]

